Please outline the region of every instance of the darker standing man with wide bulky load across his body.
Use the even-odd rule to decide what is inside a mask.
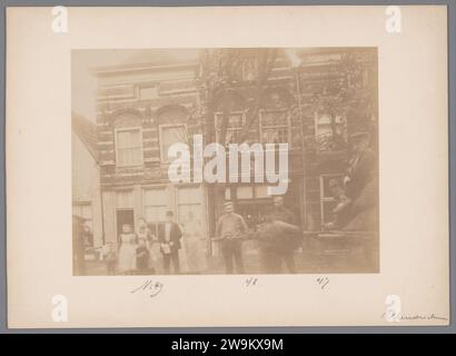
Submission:
[[[282,221],[289,225],[295,225],[295,214],[288,210],[284,206],[284,198],[280,196],[274,197],[274,207],[270,211],[271,221]],[[294,274],[296,271],[295,267],[295,249],[298,246],[298,239],[296,234],[290,234],[288,231],[282,231],[280,236],[276,237],[277,245],[272,250],[268,251],[270,256],[269,264],[272,265],[272,269],[280,269],[281,261],[284,260],[288,273]]]

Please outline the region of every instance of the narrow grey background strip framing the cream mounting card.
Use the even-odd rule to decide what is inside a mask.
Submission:
[[[6,8],[8,7],[53,7],[53,6],[68,6],[68,7],[202,7],[202,6],[432,6],[432,4],[446,4],[448,10],[448,174],[449,174],[449,197],[448,197],[448,209],[449,209],[449,293],[450,293],[450,322],[448,326],[367,326],[367,327],[133,327],[133,328],[14,328],[9,329],[7,326],[7,314],[8,314],[8,300],[7,300],[7,218],[6,218]],[[381,0],[344,0],[344,1],[325,1],[325,0],[295,0],[295,1],[271,1],[271,0],[250,0],[250,1],[207,1],[207,0],[182,0],[182,1],[157,1],[157,0],[97,0],[97,1],[78,1],[78,0],[67,0],[67,1],[2,1],[1,2],[1,28],[2,36],[0,36],[0,48],[1,48],[1,60],[2,66],[0,69],[0,80],[2,86],[0,89],[0,110],[2,112],[2,122],[0,125],[0,142],[2,147],[1,152],[1,168],[2,174],[0,175],[0,185],[2,187],[1,205],[0,205],[0,226],[2,226],[0,233],[0,271],[1,271],[1,283],[0,283],[0,333],[1,334],[33,334],[33,333],[47,333],[47,334],[79,334],[79,333],[90,333],[90,334],[101,334],[101,333],[115,333],[115,334],[246,334],[246,333],[261,333],[261,334],[335,334],[335,333],[369,333],[369,334],[381,334],[381,333],[395,333],[395,334],[406,334],[406,333],[419,333],[419,334],[454,334],[456,333],[456,283],[454,276],[455,270],[455,256],[456,256],[456,241],[455,241],[455,224],[456,219],[454,217],[455,211],[455,152],[456,152],[456,107],[455,107],[455,21],[456,21],[456,4],[453,0],[397,0],[397,1],[381,1]]]

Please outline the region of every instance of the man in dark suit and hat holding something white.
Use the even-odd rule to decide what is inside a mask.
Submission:
[[[167,211],[166,222],[158,228],[158,241],[160,243],[160,251],[163,255],[165,273],[170,273],[170,264],[172,263],[175,274],[179,274],[179,249],[180,238],[182,233],[179,226],[174,221],[172,211]]]

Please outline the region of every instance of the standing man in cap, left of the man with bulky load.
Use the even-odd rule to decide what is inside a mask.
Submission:
[[[225,214],[217,222],[217,236],[221,239],[226,271],[234,273],[235,259],[237,273],[242,274],[242,236],[247,233],[247,224],[240,215],[235,214],[231,201],[225,201],[224,209]]]

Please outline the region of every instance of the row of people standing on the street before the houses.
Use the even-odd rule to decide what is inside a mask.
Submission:
[[[227,274],[242,274],[242,245],[247,239],[259,241],[261,265],[266,273],[280,273],[281,263],[295,273],[294,250],[299,245],[299,228],[295,215],[284,206],[281,197],[274,198],[274,207],[256,231],[249,231],[242,216],[235,212],[232,201],[224,204],[224,214],[217,221],[214,241],[220,244]],[[207,271],[206,239],[198,221],[190,212],[182,224],[175,222],[167,211],[165,224],[153,234],[141,219],[137,231],[128,224],[122,226],[118,244],[103,247],[102,259],[108,275],[148,275],[161,268],[163,274],[201,274]],[[161,259],[161,266],[158,263]],[[182,270],[182,259],[185,268]]]

